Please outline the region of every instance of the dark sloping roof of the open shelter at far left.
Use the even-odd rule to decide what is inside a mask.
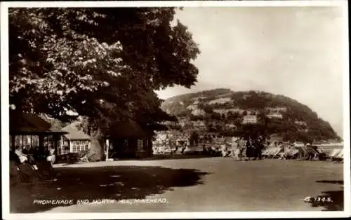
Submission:
[[[36,114],[10,111],[10,135],[65,134]]]

